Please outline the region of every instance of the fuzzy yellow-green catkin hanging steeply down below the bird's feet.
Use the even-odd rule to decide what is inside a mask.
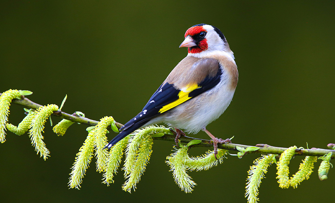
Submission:
[[[182,191],[192,193],[193,187],[197,184],[192,181],[192,178],[186,171],[186,162],[189,160],[187,150],[188,147],[186,146],[178,149],[176,152],[170,154],[170,156],[167,156],[166,159],[168,160],[165,162],[170,166],[173,178]]]

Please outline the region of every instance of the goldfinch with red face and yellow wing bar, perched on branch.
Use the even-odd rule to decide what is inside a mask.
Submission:
[[[176,141],[183,134],[179,129],[188,133],[205,131],[214,142],[214,154],[217,154],[217,143],[230,142],[206,130],[227,109],[238,82],[237,66],[226,38],[216,27],[198,24],[186,31],[179,47],[188,47],[187,57],[105,148],[111,148],[139,128],[161,122],[176,129]]]

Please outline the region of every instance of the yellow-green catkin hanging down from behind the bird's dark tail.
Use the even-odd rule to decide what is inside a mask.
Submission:
[[[117,170],[120,166],[121,158],[123,151],[126,148],[129,135],[116,143],[108,154],[107,168],[104,173],[104,183],[109,186],[110,183],[114,183],[113,177],[117,173]]]

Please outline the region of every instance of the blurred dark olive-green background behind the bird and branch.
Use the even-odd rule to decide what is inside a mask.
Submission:
[[[321,1],[320,1],[321,2]],[[0,91],[31,90],[29,99],[126,123],[187,55],[178,48],[194,24],[218,27],[235,53],[239,83],[226,112],[207,129],[255,145],[326,148],[335,132],[334,1],[1,1]],[[11,106],[17,125],[23,110]],[[59,118],[53,117],[57,123]],[[228,156],[209,171],[190,172],[198,184],[185,194],[164,163],[171,142],[155,141],[136,192],[121,190],[123,173],[107,187],[91,162],[81,190],[68,189],[70,167],[86,138],[84,125],[57,137],[49,124],[46,161],[27,134],[8,132],[0,144],[2,202],[247,202],[247,171],[258,154]],[[116,134],[111,132],[108,138]],[[200,132],[194,135],[207,139]],[[191,155],[206,148],[190,150]],[[302,157],[291,160],[294,174]],[[278,187],[276,166],[260,187],[260,202],[333,201],[328,180],[314,173],[297,189]]]

